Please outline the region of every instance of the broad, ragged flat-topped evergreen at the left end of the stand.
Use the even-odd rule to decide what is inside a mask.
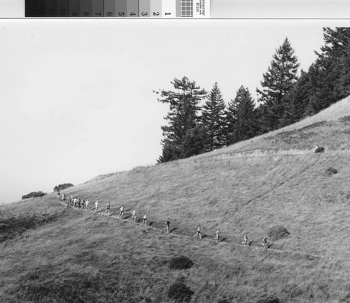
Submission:
[[[187,158],[205,151],[204,127],[200,121],[199,102],[207,94],[195,82],[183,77],[171,82],[175,91],[158,91],[158,101],[169,104],[169,112],[165,119],[167,125],[162,126],[162,155],[158,163]]]

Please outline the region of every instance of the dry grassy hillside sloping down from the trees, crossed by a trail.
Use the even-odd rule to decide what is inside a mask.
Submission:
[[[279,131],[197,157],[103,175],[64,191],[147,213],[144,227],[92,210],[0,244],[1,302],[339,302],[350,293],[350,99]],[[315,154],[316,145],[325,152]],[[336,174],[328,173],[335,168]],[[50,206],[46,209],[45,207]],[[64,208],[55,194],[0,208]],[[171,220],[167,235],[162,229]],[[204,239],[193,239],[197,225]],[[262,237],[284,226],[289,237]],[[223,242],[214,242],[221,228]],[[248,233],[251,245],[241,246]],[[193,267],[169,268],[176,256]],[[349,296],[350,297],[350,296]]]

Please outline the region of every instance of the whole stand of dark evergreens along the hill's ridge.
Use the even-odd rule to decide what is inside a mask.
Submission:
[[[325,45],[297,77],[299,63],[288,38],[262,75],[255,107],[248,88],[239,87],[225,104],[216,82],[209,92],[188,77],[174,79],[174,91],[160,90],[169,104],[162,126],[158,163],[187,158],[295,123],[350,95],[350,28],[323,28]],[[201,105],[202,104],[202,105]]]

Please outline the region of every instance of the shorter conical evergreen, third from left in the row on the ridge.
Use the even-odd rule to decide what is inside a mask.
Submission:
[[[255,105],[248,88],[239,87],[226,110],[227,142],[232,144],[256,135]]]

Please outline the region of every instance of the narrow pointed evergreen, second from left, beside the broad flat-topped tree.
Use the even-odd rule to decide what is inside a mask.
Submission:
[[[225,102],[216,82],[202,108],[202,121],[207,131],[206,150],[225,145]]]

